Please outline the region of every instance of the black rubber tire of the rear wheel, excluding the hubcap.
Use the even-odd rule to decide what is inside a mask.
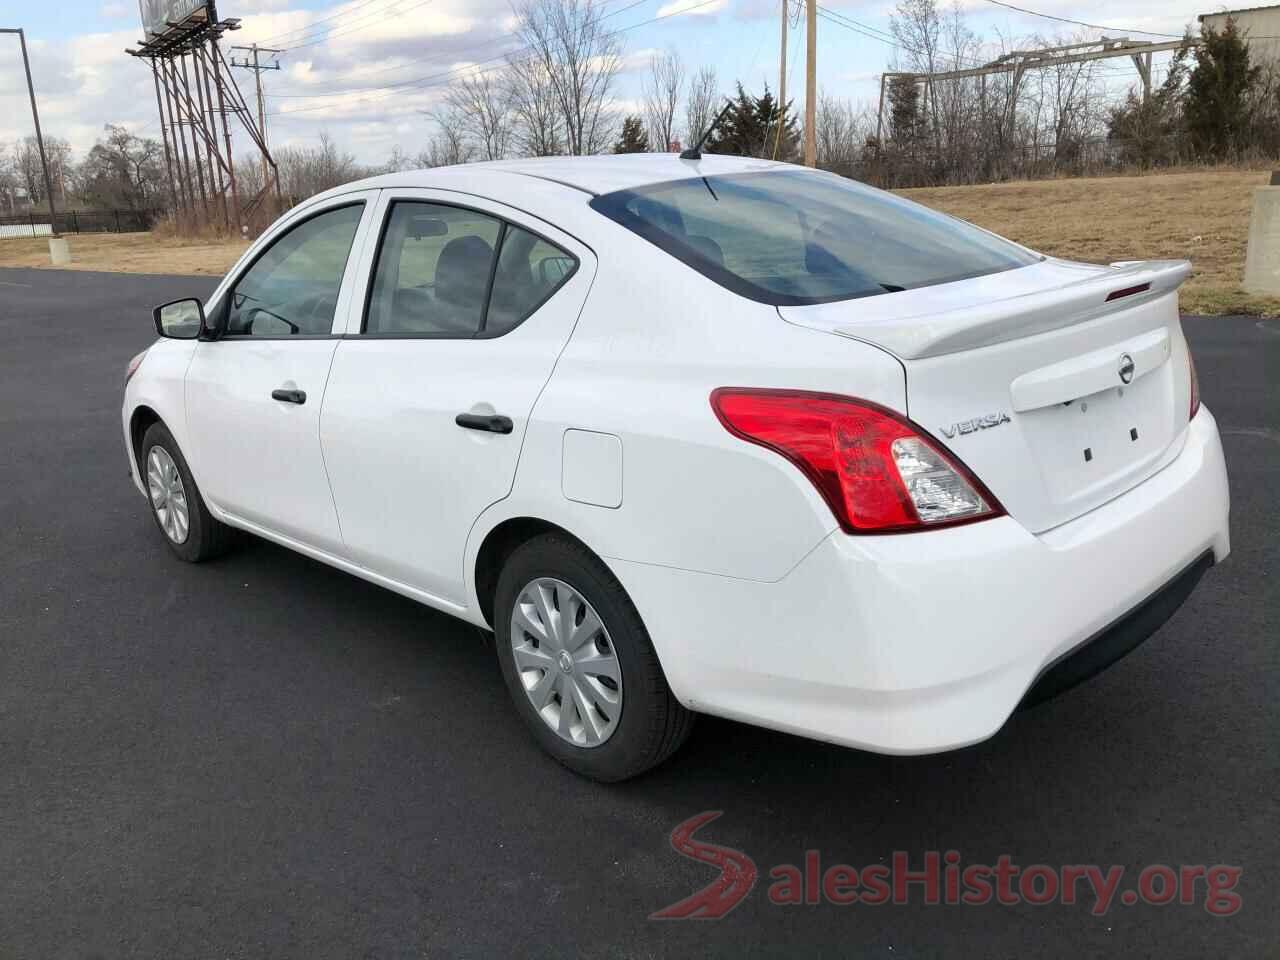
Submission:
[[[586,599],[603,622],[622,671],[622,709],[609,737],[576,746],[543,721],[516,668],[511,620],[521,590],[539,577],[559,580]],[[667,685],[649,632],[617,577],[582,544],[564,534],[543,534],[521,544],[498,577],[494,646],[516,712],[541,748],[575,773],[602,782],[635,777],[657,767],[689,737],[695,714]]]

